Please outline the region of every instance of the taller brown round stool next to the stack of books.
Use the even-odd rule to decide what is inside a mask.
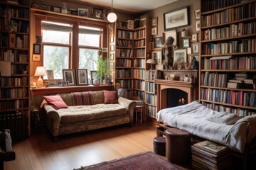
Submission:
[[[166,130],[166,159],[174,164],[187,164],[191,157],[191,135],[185,130]]]

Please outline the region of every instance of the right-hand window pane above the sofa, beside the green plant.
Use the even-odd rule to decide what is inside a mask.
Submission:
[[[79,26],[79,69],[97,70],[96,60],[100,49],[102,30],[87,26]]]

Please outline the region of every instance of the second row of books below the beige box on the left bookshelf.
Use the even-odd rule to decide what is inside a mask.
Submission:
[[[28,88],[1,89],[1,98],[23,98],[28,96]]]

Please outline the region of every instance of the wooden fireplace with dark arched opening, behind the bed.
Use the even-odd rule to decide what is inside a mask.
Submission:
[[[198,100],[198,83],[156,79],[157,111]]]

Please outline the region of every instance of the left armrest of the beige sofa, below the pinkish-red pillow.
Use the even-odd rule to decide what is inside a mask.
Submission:
[[[55,108],[48,104],[44,106],[44,109],[46,111],[46,125],[52,133],[53,137],[56,137],[59,134],[60,115],[58,114],[58,111],[55,110]]]

